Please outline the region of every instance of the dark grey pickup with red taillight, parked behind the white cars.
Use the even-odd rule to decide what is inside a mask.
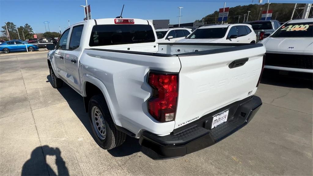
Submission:
[[[262,21],[249,21],[247,24],[251,24],[256,34],[257,43],[264,39],[264,34],[272,34],[281,25],[276,20],[262,20]]]

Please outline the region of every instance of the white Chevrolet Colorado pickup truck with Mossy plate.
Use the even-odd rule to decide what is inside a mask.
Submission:
[[[147,20],[110,18],[69,26],[47,48],[51,84],[84,98],[104,149],[139,138],[153,159],[213,145],[245,126],[262,102],[263,44],[157,44]]]

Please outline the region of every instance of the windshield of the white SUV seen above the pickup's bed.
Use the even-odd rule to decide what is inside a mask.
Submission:
[[[221,39],[227,28],[202,28],[193,31],[187,39]]]

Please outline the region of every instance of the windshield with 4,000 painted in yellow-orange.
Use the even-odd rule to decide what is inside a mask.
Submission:
[[[313,37],[313,23],[287,23],[271,37]]]

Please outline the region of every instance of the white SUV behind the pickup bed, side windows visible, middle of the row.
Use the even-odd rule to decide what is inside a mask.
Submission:
[[[198,28],[177,43],[255,43],[256,35],[249,24],[217,24]]]

